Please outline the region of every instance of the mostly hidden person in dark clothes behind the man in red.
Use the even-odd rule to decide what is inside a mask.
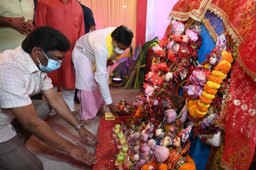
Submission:
[[[85,29],[85,34],[89,33],[90,30],[94,31],[96,30],[96,24],[93,18],[93,13],[92,10],[90,8],[88,8],[87,6],[81,4],[78,0],[76,0],[80,5],[81,8],[83,9],[83,13],[84,13],[84,29]],[[77,89],[75,90],[75,101],[77,101],[76,103],[80,103],[80,101],[77,98]]]

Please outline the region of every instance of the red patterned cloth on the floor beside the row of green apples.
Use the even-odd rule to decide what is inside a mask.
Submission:
[[[126,119],[129,119],[129,116],[122,116],[114,121],[106,121],[104,117],[100,118],[98,139],[101,143],[96,146],[95,156],[98,163],[93,166],[93,170],[116,170],[115,160],[117,151],[112,139],[112,128],[116,124],[121,124]]]

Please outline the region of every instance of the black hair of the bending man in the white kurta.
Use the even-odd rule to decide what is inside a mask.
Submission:
[[[111,33],[111,37],[114,38],[117,43],[131,45],[133,33],[129,28],[121,25]]]

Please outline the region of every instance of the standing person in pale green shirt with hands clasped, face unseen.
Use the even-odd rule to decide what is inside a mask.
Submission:
[[[20,46],[35,29],[34,15],[33,0],[0,0],[0,53]]]

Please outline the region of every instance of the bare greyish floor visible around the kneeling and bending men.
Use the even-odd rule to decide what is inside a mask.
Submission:
[[[138,90],[124,90],[122,88],[110,88],[113,103],[117,104],[121,99],[125,99],[128,103],[134,102],[134,99],[138,93]],[[75,104],[75,109],[79,112],[76,116],[77,119],[80,118],[80,106]],[[109,112],[108,108],[105,106],[105,110]],[[99,127],[99,117],[91,121],[90,126],[85,126],[86,129],[91,131],[94,135],[97,135]],[[46,122],[53,128],[59,135],[68,139],[72,143],[83,146],[90,150],[92,153],[95,151],[94,143],[90,146],[86,146],[83,140],[79,137],[77,131],[72,128],[68,123],[66,123],[58,115],[51,116]],[[39,141],[35,136],[32,136],[26,143],[26,147],[33,152],[44,165],[45,170],[81,170],[81,169],[91,169],[87,167],[82,162],[72,159],[65,152],[51,148],[50,146]],[[100,160],[99,160],[100,161]]]

